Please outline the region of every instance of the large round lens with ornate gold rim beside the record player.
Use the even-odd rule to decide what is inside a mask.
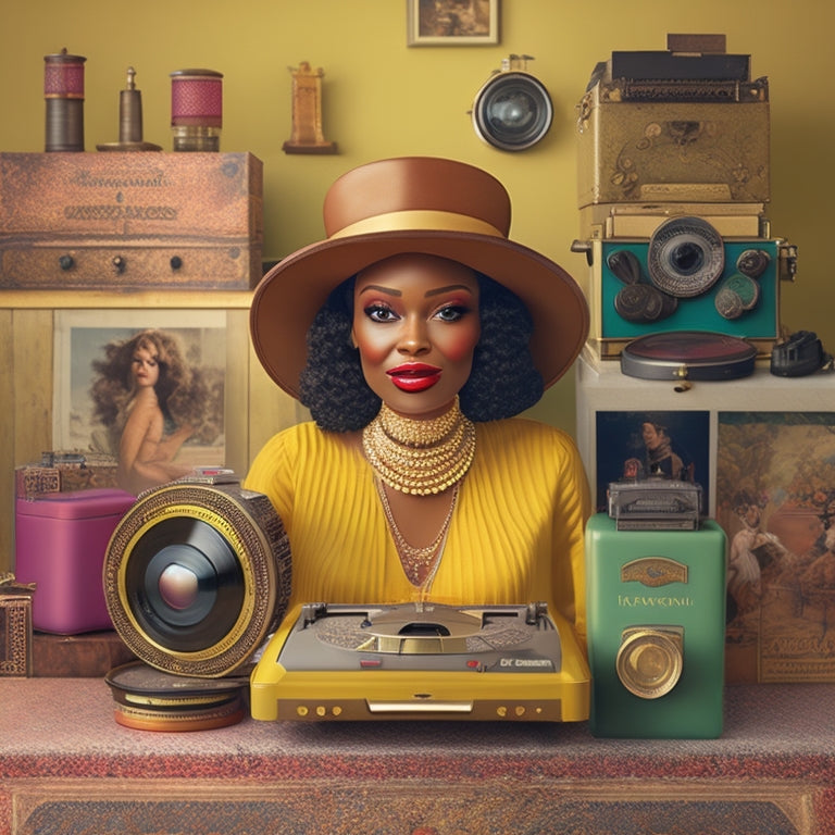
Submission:
[[[216,677],[244,664],[284,615],[289,545],[266,496],[175,482],[122,519],[103,582],[113,625],[140,660]]]

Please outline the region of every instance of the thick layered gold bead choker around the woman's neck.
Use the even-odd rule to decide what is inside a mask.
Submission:
[[[392,489],[415,496],[444,493],[463,478],[475,456],[475,424],[456,397],[439,418],[403,418],[385,403],[362,431],[365,458]]]

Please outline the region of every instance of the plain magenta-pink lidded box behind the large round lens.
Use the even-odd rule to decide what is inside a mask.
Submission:
[[[36,583],[32,625],[75,635],[112,630],[101,578],[108,543],[136,501],[116,489],[16,499],[15,578]]]

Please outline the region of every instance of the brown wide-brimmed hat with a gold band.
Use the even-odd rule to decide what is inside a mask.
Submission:
[[[559,264],[508,239],[510,198],[494,176],[454,160],[403,157],[349,171],[325,196],[327,239],[261,279],[250,311],[266,373],[298,398],[306,337],[329,292],[376,261],[408,252],[459,261],[504,285],[534,320],[531,351],[546,387],[577,358],[588,306]]]

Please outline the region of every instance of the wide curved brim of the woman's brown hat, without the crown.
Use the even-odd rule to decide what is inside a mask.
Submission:
[[[399,230],[331,238],[276,264],[258,285],[250,310],[252,345],[266,373],[299,397],[306,337],[331,291],[371,264],[415,252],[458,261],[514,292],[534,320],[531,351],[546,387],[577,358],[588,335],[588,306],[559,264],[502,237]]]

